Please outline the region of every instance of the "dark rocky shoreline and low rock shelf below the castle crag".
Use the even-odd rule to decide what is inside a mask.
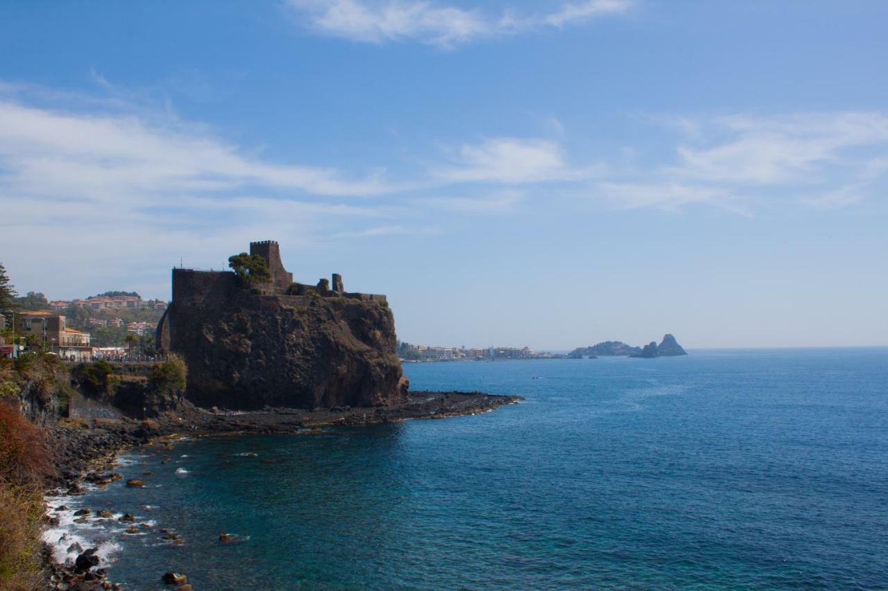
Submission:
[[[81,509],[81,515],[76,516],[75,512],[65,506],[64,499],[79,497],[91,488],[120,479],[120,475],[114,471],[117,457],[138,445],[162,445],[163,448],[171,449],[179,437],[287,433],[298,435],[317,433],[330,427],[373,425],[410,419],[441,419],[485,413],[499,406],[515,404],[521,399],[518,396],[496,396],[480,392],[418,391],[410,392],[407,401],[391,406],[344,406],[315,410],[266,408],[260,411],[234,412],[215,407],[206,410],[186,403],[176,412],[147,421],[93,419],[60,422],[48,429],[55,448],[57,477],[49,483],[50,487],[46,492],[52,502],[47,503],[45,521],[48,528],[59,527],[60,520],[73,517],[87,521],[127,523],[130,519],[128,514],[116,516],[107,511]],[[132,485],[139,486],[139,482]],[[153,526],[150,523],[131,523],[128,530]],[[170,543],[181,543],[175,540],[174,532],[163,533],[170,537]],[[67,542],[64,540],[65,535],[67,534],[62,534],[59,540],[47,541],[64,546]],[[107,569],[100,566],[98,552],[98,548],[81,548],[73,541],[67,548],[67,561],[59,563],[59,556],[47,544],[44,550],[45,587],[78,591],[121,588],[106,579]],[[163,574],[158,573],[159,581]],[[166,579],[172,581],[170,585],[176,586],[173,588],[181,591],[191,588],[184,579]]]

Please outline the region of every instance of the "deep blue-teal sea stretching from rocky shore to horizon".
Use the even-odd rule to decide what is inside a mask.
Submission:
[[[169,569],[196,589],[888,587],[888,349],[405,371],[416,390],[527,401],[137,450],[147,466],[122,471],[153,470],[148,488],[80,501],[157,522],[124,535],[111,577],[137,589],[163,587]],[[163,526],[185,545],[164,545]]]

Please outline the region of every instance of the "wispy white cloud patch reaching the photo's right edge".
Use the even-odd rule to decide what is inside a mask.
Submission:
[[[675,159],[599,185],[627,207],[710,203],[748,212],[753,199],[795,199],[818,209],[863,201],[888,173],[888,116],[813,113],[654,117],[678,130]]]

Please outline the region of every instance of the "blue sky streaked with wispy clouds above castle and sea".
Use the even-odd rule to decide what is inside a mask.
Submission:
[[[888,4],[0,3],[0,262],[281,242],[401,339],[885,344]]]

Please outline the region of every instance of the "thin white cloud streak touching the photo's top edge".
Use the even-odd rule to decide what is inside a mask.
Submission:
[[[324,35],[364,43],[409,41],[452,48],[626,12],[632,2],[586,0],[563,4],[555,12],[527,16],[517,16],[518,12],[511,7],[494,15],[481,7],[467,10],[423,0],[289,0],[288,6],[310,28]]]

